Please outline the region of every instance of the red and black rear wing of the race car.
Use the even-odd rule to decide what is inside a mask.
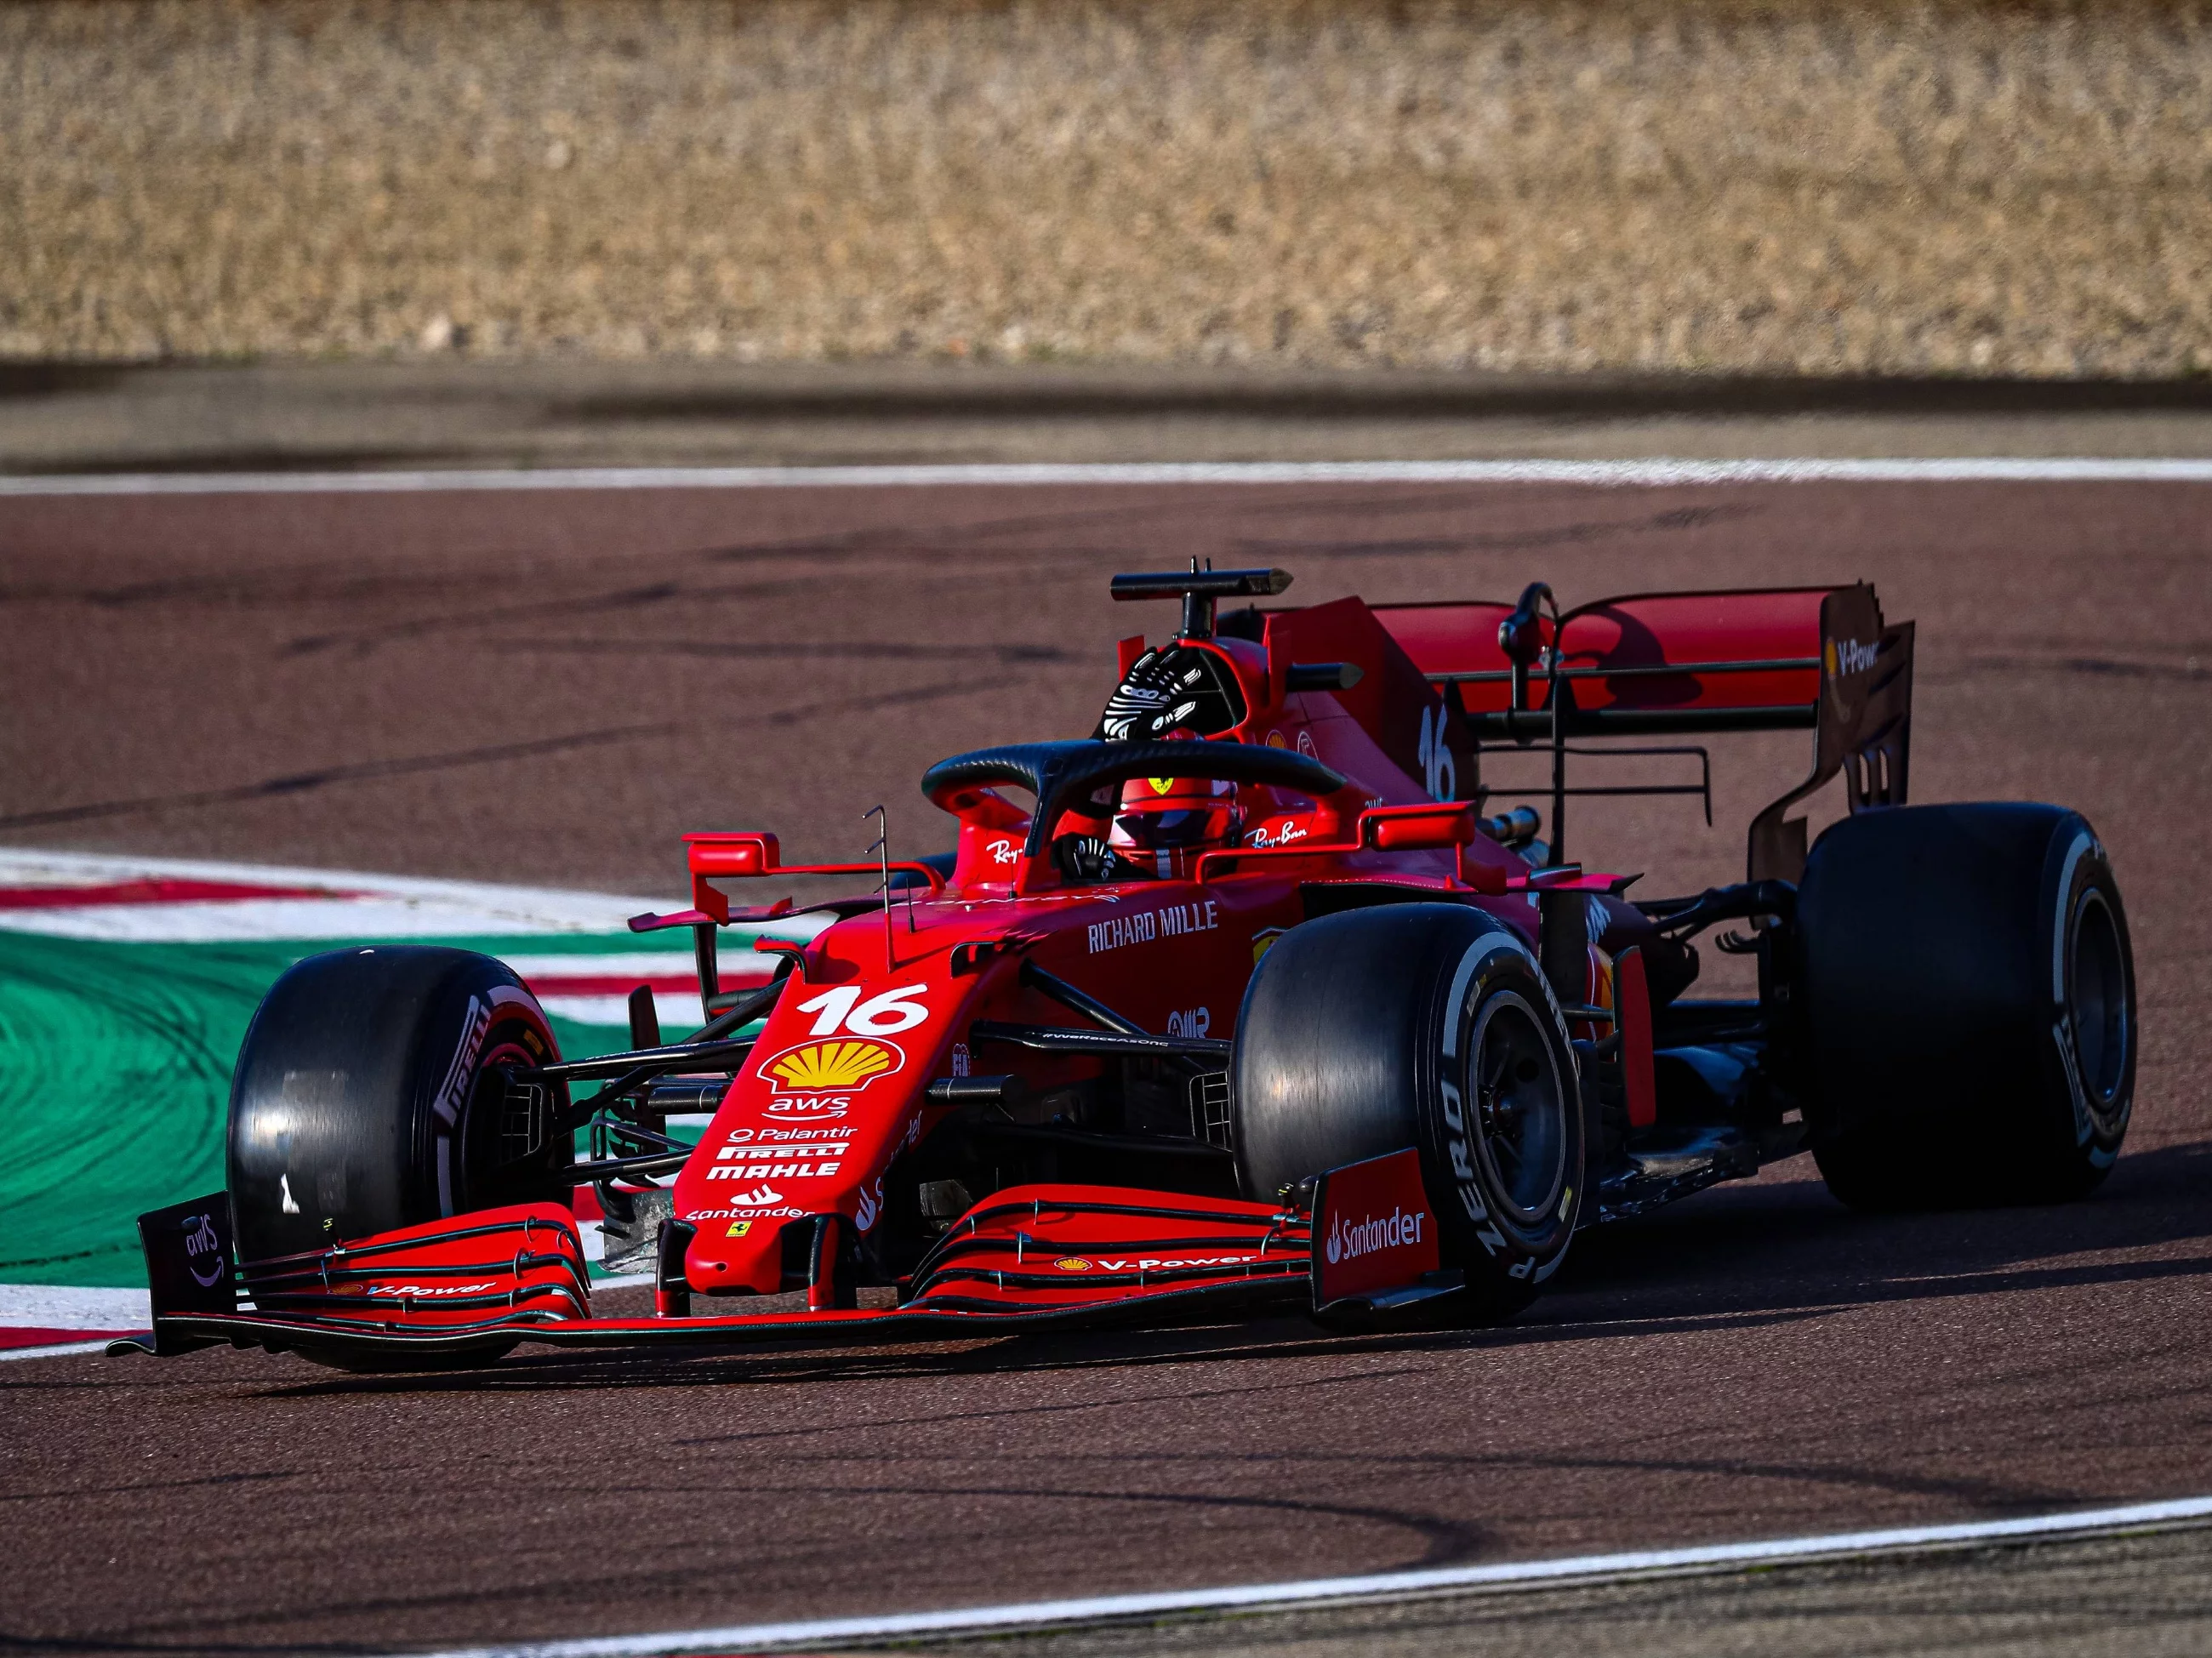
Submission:
[[[1905,802],[1913,623],[1885,626],[1867,584],[1639,592],[1551,617],[1533,597],[1374,615],[1478,743],[1812,730],[1812,776],[1752,820],[1752,880],[1805,871],[1805,820],[1785,814],[1838,772],[1851,811]],[[1533,628],[1509,654],[1517,617]]]

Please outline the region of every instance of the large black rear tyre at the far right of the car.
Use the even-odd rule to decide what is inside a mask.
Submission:
[[[2046,805],[1867,811],[1798,886],[1814,1156],[1865,1209],[2057,1203],[2135,1103],[2135,957],[2088,822]]]

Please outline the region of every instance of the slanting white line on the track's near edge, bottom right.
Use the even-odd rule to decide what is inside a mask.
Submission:
[[[1307,1578],[1303,1583],[1252,1583],[1228,1589],[1170,1589],[1166,1594],[1108,1594],[1088,1601],[1031,1601],[1009,1607],[962,1607],[958,1612],[909,1612],[883,1618],[814,1618],[805,1623],[750,1623],[728,1629],[681,1629],[655,1636],[599,1636],[586,1640],[529,1640],[507,1647],[465,1647],[434,1658],[655,1658],[708,1649],[759,1651],[768,1647],[812,1647],[836,1640],[914,1640],[947,1636],[991,1636],[1013,1629],[1161,1618],[1197,1612],[1252,1612],[1327,1601],[1387,1601],[1451,1589],[1533,1589],[1632,1576],[1728,1572],[1783,1561],[1836,1561],[1867,1554],[1960,1550],[1986,1543],[2126,1532],[2212,1519],[2212,1497],[2170,1503],[2132,1503],[2075,1514],[2033,1514],[2008,1521],[1962,1525],[1900,1525],[1882,1532],[1832,1532],[1785,1536],[1767,1543],[1712,1543],[1683,1550],[1637,1550],[1628,1554],[1577,1554],[1564,1561],[1511,1561],[1504,1565],[1455,1565],[1429,1572],[1376,1572],[1356,1578]]]

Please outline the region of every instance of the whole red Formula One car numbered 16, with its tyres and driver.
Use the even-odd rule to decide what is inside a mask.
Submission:
[[[1287,586],[1115,577],[1181,628],[1121,643],[1091,738],[933,765],[949,856],[690,836],[692,909],[633,922],[697,937],[684,1041],[641,990],[635,1052],[562,1061],[462,951],[294,966],[239,1054],[228,1192],[142,1220],[155,1351],[1495,1320],[1579,1227],[1805,1150],[1867,1207],[2066,1198],[2112,1165],[2135,986],[2104,847],[2062,807],[1905,805],[1913,630],[1871,588],[1219,610]],[[1566,862],[1575,796],[1710,816],[1703,780],[1571,765],[1705,776],[1650,738],[1778,727],[1814,765],[1752,820],[1743,884],[1632,900]],[[1548,758],[1548,844],[1489,811],[1504,754]],[[1838,776],[1849,816],[1807,849],[1790,814]],[[872,891],[732,902],[825,873]],[[818,931],[759,937],[774,979],[721,990],[721,931],[772,917]],[[1721,924],[1756,999],[1688,995]],[[697,1145],[684,1112],[712,1112]],[[584,1187],[650,1318],[593,1315]]]

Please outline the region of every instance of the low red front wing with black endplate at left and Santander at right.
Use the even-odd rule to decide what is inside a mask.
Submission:
[[[699,1318],[593,1318],[575,1220],[557,1205],[493,1209],[246,1262],[228,1284],[210,1284],[210,1251],[230,1253],[228,1205],[215,1194],[142,1220],[155,1331],[150,1342],[117,1342],[111,1351],[168,1355],[228,1342],[405,1364],[491,1357],[518,1342],[883,1344],[1296,1307],[1358,1322],[1460,1287],[1455,1273],[1436,1271],[1433,1222],[1427,1249],[1407,1247],[1400,1260],[1369,1249],[1356,1282],[1340,1278],[1329,1251],[1316,1258],[1316,1236],[1369,1225],[1365,1211],[1378,1185],[1400,1207],[1425,1203],[1411,1150],[1323,1176],[1312,1209],[1124,1187],[1013,1187],[951,1225],[905,1282],[898,1307]],[[1338,1214],[1332,1187],[1358,1214]],[[179,1273],[179,1265],[199,1271]]]

